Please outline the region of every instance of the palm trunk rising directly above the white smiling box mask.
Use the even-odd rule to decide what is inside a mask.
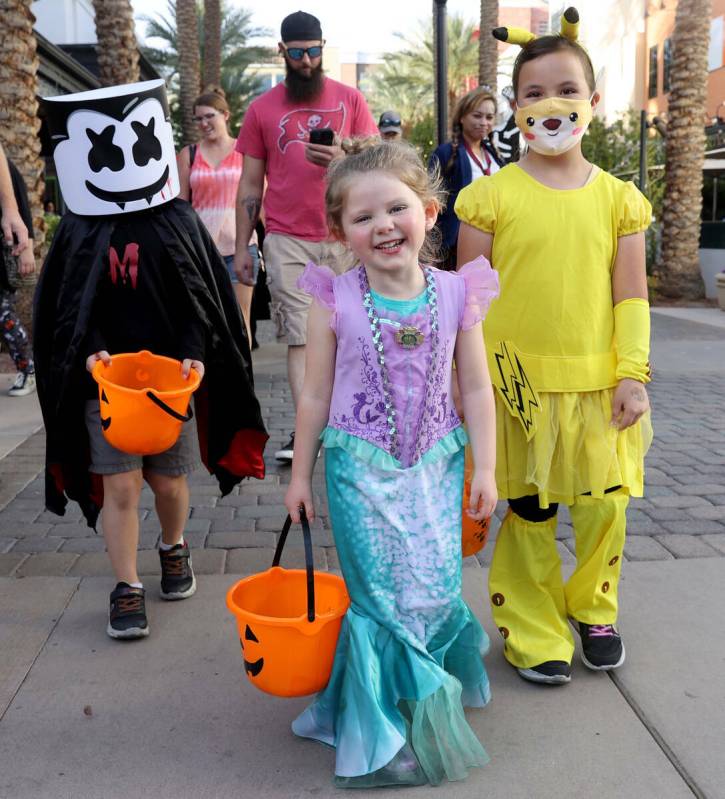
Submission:
[[[120,86],[140,79],[131,0],[93,0],[101,83]]]

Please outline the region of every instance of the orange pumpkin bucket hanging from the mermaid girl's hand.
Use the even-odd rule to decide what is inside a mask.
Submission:
[[[260,691],[274,696],[306,696],[327,685],[342,617],[350,605],[341,577],[314,570],[304,514],[306,568],[280,567],[291,524],[288,516],[272,568],[245,577],[227,592],[247,677]]]

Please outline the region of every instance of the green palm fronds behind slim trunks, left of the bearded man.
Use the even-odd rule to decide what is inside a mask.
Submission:
[[[203,11],[197,3],[198,29],[200,31],[199,47],[201,62],[205,63],[203,28]],[[146,24],[146,38],[158,39],[163,47],[144,47],[143,52],[151,63],[166,78],[169,87],[171,115],[174,130],[180,129],[181,116],[179,109],[179,40],[176,33],[176,3],[169,0],[166,15],[157,18],[142,17]],[[254,39],[271,35],[266,28],[252,26],[252,12],[246,9],[230,9],[222,3],[221,7],[221,84],[227,96],[231,116],[230,129],[234,132],[241,124],[244,111],[250,101],[261,91],[261,79],[253,74],[250,66],[265,61],[273,56],[273,52],[265,47],[250,44]]]

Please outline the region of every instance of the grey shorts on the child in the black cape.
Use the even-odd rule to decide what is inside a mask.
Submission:
[[[120,474],[147,469],[167,477],[179,477],[193,472],[199,465],[195,419],[184,422],[176,444],[158,455],[129,455],[112,447],[101,429],[101,410],[97,399],[86,402],[86,428],[91,446],[91,465],[88,470],[94,474]]]

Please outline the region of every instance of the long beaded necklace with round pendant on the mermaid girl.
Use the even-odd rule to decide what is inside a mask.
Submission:
[[[420,436],[419,436],[420,427],[421,427],[421,422],[423,420],[423,414],[425,413],[425,406],[428,401],[428,392],[430,389],[430,385],[433,381],[433,369],[436,363],[436,358],[438,356],[438,344],[439,344],[438,295],[436,293],[435,278],[433,276],[433,270],[429,266],[423,267],[423,274],[425,275],[426,300],[428,305],[428,315],[430,318],[431,346],[430,346],[430,353],[428,355],[428,364],[426,366],[426,372],[425,372],[425,397],[423,402],[421,403],[420,415],[418,417],[418,424],[416,425],[415,448],[413,450],[412,463],[416,463],[420,454]],[[390,387],[390,376],[388,375],[388,368],[385,363],[385,350],[383,347],[383,333],[382,330],[380,329],[380,317],[378,316],[378,313],[375,310],[375,303],[373,302],[372,293],[370,291],[370,283],[368,281],[368,275],[367,272],[365,271],[365,267],[362,264],[358,267],[358,280],[360,283],[360,291],[363,297],[363,306],[365,307],[365,311],[368,315],[368,321],[370,322],[370,332],[372,333],[373,346],[375,347],[375,352],[377,354],[377,359],[378,359],[378,367],[380,369],[380,379],[383,387],[383,404],[385,406],[385,415],[388,424],[388,437],[390,440],[390,454],[397,460],[400,460],[401,449],[400,449],[400,438],[398,436],[398,423],[396,418],[395,406],[393,405],[393,392]],[[403,328],[403,330],[407,329],[408,328]],[[414,328],[410,328],[410,330],[413,329]],[[418,340],[416,344],[413,344],[413,347],[417,346],[417,344],[420,344],[423,341],[423,336],[420,333],[420,331],[416,331],[416,333],[418,336],[420,336],[420,340]],[[406,335],[413,336],[412,333],[408,333]],[[403,340],[398,339],[398,343],[401,346],[405,347],[406,349],[410,348],[410,345],[406,343],[405,339]]]

